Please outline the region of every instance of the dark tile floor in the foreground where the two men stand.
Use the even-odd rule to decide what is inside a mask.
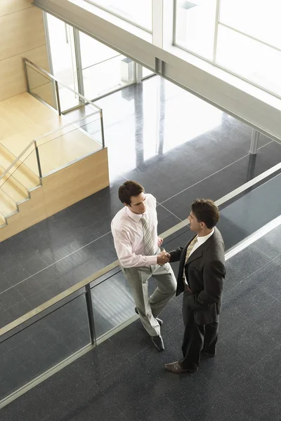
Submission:
[[[164,370],[164,363],[181,355],[178,297],[162,312],[163,353],[137,320],[3,408],[0,420],[280,421],[280,235],[281,225],[226,262],[218,353],[202,359],[197,373]],[[178,237],[169,246],[180,244]],[[77,313],[64,308],[65,317]],[[53,341],[46,326],[42,347]],[[24,349],[17,352],[22,359]],[[1,356],[1,364],[6,358]]]

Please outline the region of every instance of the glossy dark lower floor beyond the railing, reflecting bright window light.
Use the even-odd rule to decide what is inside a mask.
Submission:
[[[124,180],[156,196],[161,233],[197,196],[219,199],[281,159],[281,146],[263,135],[253,159],[251,128],[158,76],[98,105],[110,187],[0,244],[1,326],[116,260],[110,221]]]

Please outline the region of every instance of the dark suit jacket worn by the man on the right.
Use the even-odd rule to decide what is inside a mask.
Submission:
[[[214,323],[218,321],[218,314],[221,312],[223,281],[226,276],[223,238],[215,227],[214,234],[190,255],[185,265],[186,250],[190,241],[185,247],[169,252],[170,262],[180,262],[176,295],[185,290],[184,269],[191,290],[186,302],[188,309],[194,311],[195,322],[200,325]]]

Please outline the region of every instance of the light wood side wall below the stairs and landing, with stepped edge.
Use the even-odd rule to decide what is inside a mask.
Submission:
[[[31,199],[19,205],[19,212],[0,228],[0,241],[31,227],[109,185],[107,148],[44,178]],[[3,222],[3,218],[0,218]]]

